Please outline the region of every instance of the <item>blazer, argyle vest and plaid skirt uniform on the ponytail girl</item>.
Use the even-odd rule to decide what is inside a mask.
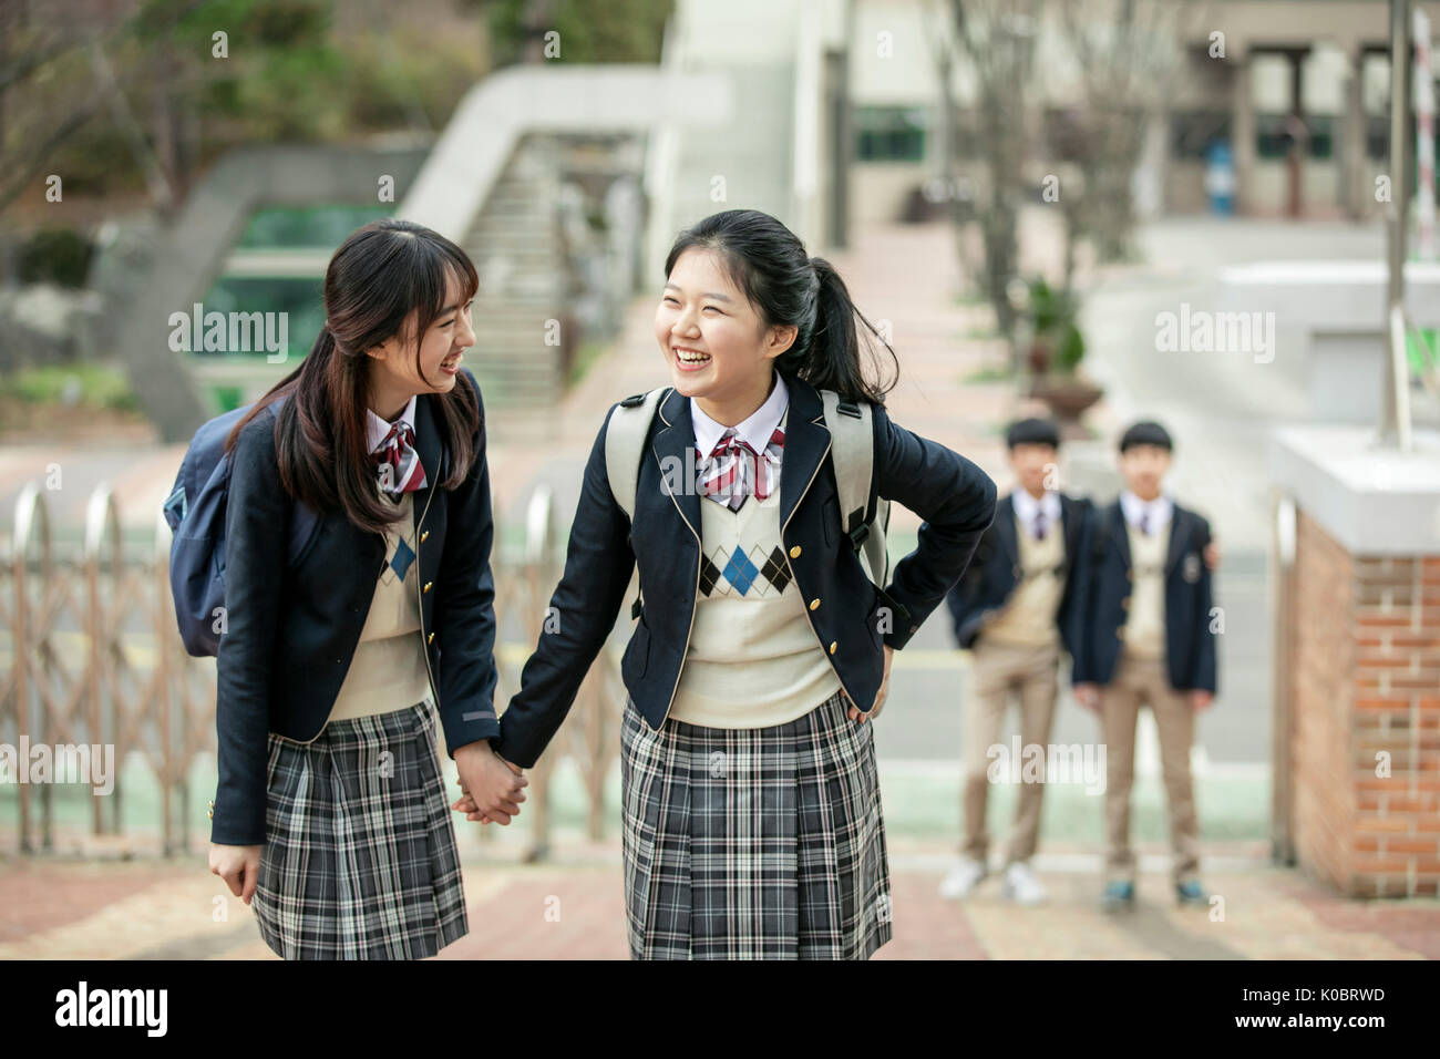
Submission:
[[[737,463],[706,451],[719,424],[675,392],[648,428],[634,520],[609,488],[603,428],[596,438],[550,599],[562,620],[526,663],[497,751],[534,764],[638,565],[621,663],[635,958],[867,958],[890,938],[873,729],[845,712],[871,707],[883,647],[904,647],[959,578],[995,487],[883,408],[873,419],[873,493],[927,519],[884,592],[841,530],[829,431],[809,383],[776,375],[737,425],[736,442],[753,454],[742,457],[749,491],[724,487]],[[668,490],[665,468],[697,458],[703,487]]]

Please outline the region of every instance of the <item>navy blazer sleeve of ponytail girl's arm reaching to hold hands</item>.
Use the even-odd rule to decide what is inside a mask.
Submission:
[[[615,408],[611,406],[609,415]],[[520,690],[500,718],[495,751],[505,761],[530,768],[550,743],[615,627],[634,569],[629,519],[611,493],[602,428],[585,465],[564,573],[550,596],[554,628],[547,622],[540,633],[520,673]]]

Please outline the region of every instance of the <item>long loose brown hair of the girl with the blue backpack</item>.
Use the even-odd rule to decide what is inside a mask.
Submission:
[[[246,424],[278,398],[288,398],[275,418],[281,484],[318,511],[343,511],[356,526],[383,532],[400,514],[374,486],[366,437],[372,370],[366,350],[400,334],[413,313],[415,370],[423,379],[420,340],[445,307],[451,277],[465,285],[461,304],[480,288],[475,265],[438,232],[393,219],[353,232],[325,268],[325,326],[310,356],[255,402],[226,438],[226,451]],[[475,460],[480,399],[464,372],[448,393],[428,396],[449,451],[449,475],[439,486],[455,488]]]

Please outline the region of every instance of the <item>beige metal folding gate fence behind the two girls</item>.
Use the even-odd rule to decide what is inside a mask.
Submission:
[[[495,511],[497,527],[503,524]],[[45,491],[27,484],[14,506],[9,555],[0,559],[0,743],[19,768],[27,746],[114,748],[114,788],[91,794],[94,834],[122,833],[122,765],[144,759],[160,791],[166,854],[192,849],[204,831],[206,791],[192,791],[200,755],[215,754],[213,658],[193,658],[180,641],[170,596],[170,527],[157,513],[153,546],[128,553],[115,497],[91,494],[79,546],[60,548]],[[503,707],[518,686],[518,661],[536,644],[560,571],[554,504],[536,490],[524,510],[523,545],[497,546],[495,614],[510,638],[497,643]],[[62,553],[63,552],[63,553]],[[497,637],[498,640],[498,637]],[[550,787],[559,756],[577,768],[588,833],[602,837],[605,778],[619,752],[625,690],[613,650],[600,653],[569,719],[530,769],[526,816],[530,856],[550,844]],[[53,782],[19,782],[19,850],[55,847]],[[485,828],[488,834],[488,828]]]

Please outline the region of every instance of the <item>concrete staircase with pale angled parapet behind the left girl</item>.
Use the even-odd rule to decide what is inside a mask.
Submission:
[[[536,63],[475,85],[455,110],[396,216],[458,242],[480,272],[468,366],[510,435],[543,437],[579,339],[564,239],[567,144],[649,135],[685,114],[729,120],[729,81],[651,65]]]

